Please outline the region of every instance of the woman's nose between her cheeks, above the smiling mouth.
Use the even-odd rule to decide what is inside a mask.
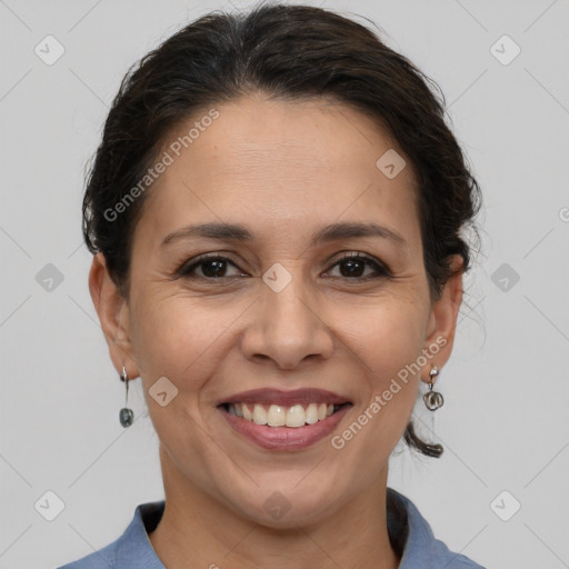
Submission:
[[[250,310],[252,320],[241,342],[246,358],[293,369],[305,360],[331,357],[333,337],[326,313],[299,274],[280,292],[261,282],[259,299]]]

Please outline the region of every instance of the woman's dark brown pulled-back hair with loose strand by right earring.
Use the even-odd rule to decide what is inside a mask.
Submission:
[[[320,8],[261,4],[246,13],[212,12],[189,23],[122,80],[89,173],[83,236],[93,254],[104,254],[124,298],[144,194],[123,208],[118,221],[106,212],[140,182],[180,121],[259,91],[289,100],[327,98],[387,129],[417,173],[431,298],[438,298],[453,273],[450,256],[460,254],[459,270],[469,269],[470,247],[461,231],[468,227],[476,233],[480,189],[445,122],[438,86],[350,19]],[[423,455],[442,453],[440,445],[416,435],[412,421],[405,440]]]

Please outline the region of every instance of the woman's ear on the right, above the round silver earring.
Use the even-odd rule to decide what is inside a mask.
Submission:
[[[450,258],[455,276],[446,282],[440,297],[431,307],[423,347],[428,362],[421,370],[421,380],[426,383],[430,381],[429,371],[432,366],[441,370],[452,352],[458,312],[462,303],[462,266],[460,254]]]

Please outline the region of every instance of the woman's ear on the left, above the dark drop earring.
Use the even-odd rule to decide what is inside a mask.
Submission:
[[[101,252],[93,256],[89,271],[89,291],[117,373],[120,375],[124,366],[128,378],[137,378],[140,371],[133,358],[130,339],[129,306],[109,274]]]

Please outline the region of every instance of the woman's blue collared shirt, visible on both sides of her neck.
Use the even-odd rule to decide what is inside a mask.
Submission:
[[[163,511],[163,500],[139,505],[119,539],[59,569],[166,569],[148,538]],[[436,539],[415,503],[392,488],[387,489],[387,527],[393,548],[401,553],[399,569],[485,569]]]

